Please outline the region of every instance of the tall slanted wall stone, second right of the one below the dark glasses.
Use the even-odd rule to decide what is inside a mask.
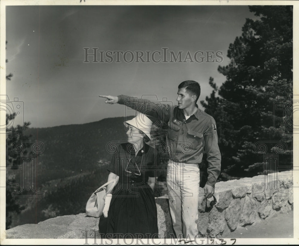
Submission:
[[[245,196],[244,199],[245,201],[239,223],[241,226],[252,224],[255,221],[257,210],[257,201],[255,201],[254,198]]]

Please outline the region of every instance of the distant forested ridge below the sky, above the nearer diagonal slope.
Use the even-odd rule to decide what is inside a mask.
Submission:
[[[107,143],[126,140],[124,120],[116,117],[81,125],[27,129],[25,135],[31,134],[33,140],[45,145],[38,156],[39,184],[93,171],[109,161]]]

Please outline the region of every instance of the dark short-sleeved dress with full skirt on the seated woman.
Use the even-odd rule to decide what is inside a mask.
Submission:
[[[118,146],[107,168],[119,180],[111,192],[108,217],[100,217],[104,237],[158,238],[157,207],[147,184],[149,177],[155,177],[155,160],[155,149],[145,143],[136,157],[131,143]]]

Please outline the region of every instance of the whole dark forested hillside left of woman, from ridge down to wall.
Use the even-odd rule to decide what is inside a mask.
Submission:
[[[27,128],[24,135],[45,145],[36,172],[37,190],[45,197],[13,198],[25,210],[13,215],[11,227],[84,213],[89,196],[108,177],[111,154],[106,144],[126,140],[124,120],[117,117],[81,125]]]

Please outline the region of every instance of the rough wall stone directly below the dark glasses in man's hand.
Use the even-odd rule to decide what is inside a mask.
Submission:
[[[222,233],[225,229],[225,224],[224,212],[219,212],[217,209],[213,208],[209,214],[207,232],[213,233],[214,235]]]

